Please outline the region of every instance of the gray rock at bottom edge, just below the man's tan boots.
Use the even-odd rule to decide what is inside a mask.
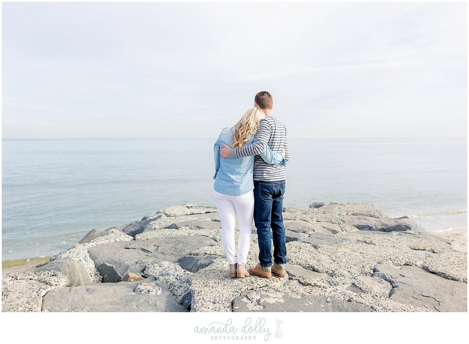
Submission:
[[[244,291],[233,300],[233,312],[374,312],[333,296],[301,295],[263,288]]]

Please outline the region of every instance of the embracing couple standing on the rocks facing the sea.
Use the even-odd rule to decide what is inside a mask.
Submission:
[[[289,160],[287,130],[272,115],[272,95],[256,94],[251,107],[232,128],[221,131],[213,148],[213,199],[221,221],[221,239],[231,277],[285,276],[287,248],[282,209],[285,166]],[[238,219],[238,252],[234,250],[234,218]],[[259,264],[245,264],[252,221],[257,228]],[[271,228],[273,236],[273,265]]]

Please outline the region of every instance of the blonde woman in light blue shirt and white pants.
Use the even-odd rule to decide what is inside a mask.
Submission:
[[[254,183],[252,174],[254,156],[222,159],[219,149],[221,144],[242,148],[254,141],[259,122],[265,117],[264,112],[251,107],[234,127],[223,129],[213,146],[215,158],[215,183],[213,199],[218,207],[221,221],[221,241],[230,265],[231,277],[249,276],[245,263],[251,243],[252,220],[254,215]],[[272,165],[285,165],[281,153],[272,152],[268,145],[260,154],[262,159]],[[238,218],[239,238],[238,256],[234,255],[234,215]]]

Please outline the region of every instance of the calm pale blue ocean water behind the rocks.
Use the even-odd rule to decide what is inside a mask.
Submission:
[[[165,206],[214,206],[213,139],[2,140],[2,260],[49,256]],[[467,227],[466,138],[290,138],[284,206],[334,200]]]

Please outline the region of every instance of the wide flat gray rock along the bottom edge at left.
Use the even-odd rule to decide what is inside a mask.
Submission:
[[[149,286],[148,283],[154,284]],[[146,285],[145,285],[146,284]],[[140,287],[143,285],[143,287]],[[148,290],[148,291],[147,291]],[[187,312],[163,283],[93,283],[55,289],[44,296],[43,312]]]

